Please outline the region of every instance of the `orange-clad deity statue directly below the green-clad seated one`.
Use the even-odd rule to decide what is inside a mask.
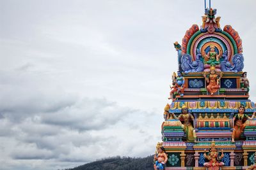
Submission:
[[[216,74],[216,70],[214,66],[210,68],[209,76],[204,73],[204,78],[209,85],[207,85],[206,89],[211,94],[211,96],[220,89],[220,79],[222,77],[222,72],[220,73],[220,77]]]

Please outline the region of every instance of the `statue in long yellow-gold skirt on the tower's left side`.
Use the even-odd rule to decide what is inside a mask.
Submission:
[[[182,129],[187,134],[187,141],[195,141],[196,142],[196,131],[195,127],[195,118],[191,113],[188,113],[188,108],[186,106],[182,106],[182,113],[179,117],[176,117],[174,113],[172,113],[173,118],[176,120],[180,120],[182,122]],[[193,125],[191,124],[193,122]],[[194,127],[193,127],[194,126]]]

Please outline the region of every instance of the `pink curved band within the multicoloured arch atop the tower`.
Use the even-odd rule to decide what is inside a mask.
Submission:
[[[193,46],[193,57],[194,57],[194,60],[196,59],[196,48],[197,48],[198,44],[200,43],[200,41],[202,41],[202,39],[208,38],[208,37],[218,38],[218,39],[221,39],[221,41],[223,41],[223,43],[227,46],[228,61],[229,61],[230,58],[232,57],[231,56],[231,46],[230,46],[230,44],[228,43],[228,41],[225,38],[223,38],[222,36],[219,36],[218,34],[204,34],[200,38],[196,39],[196,42],[195,42],[195,44]]]

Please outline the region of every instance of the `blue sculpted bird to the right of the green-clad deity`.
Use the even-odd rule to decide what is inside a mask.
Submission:
[[[239,72],[244,68],[244,57],[242,53],[237,53],[232,57],[232,63],[228,61],[227,50],[222,55],[223,60],[221,61],[221,71],[232,71]]]

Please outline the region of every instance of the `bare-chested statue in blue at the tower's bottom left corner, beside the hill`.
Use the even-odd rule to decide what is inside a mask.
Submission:
[[[164,165],[166,164],[168,157],[167,154],[165,153],[164,147],[161,146],[157,148],[157,154],[154,155],[154,160],[156,160],[154,164],[154,169],[164,169]]]

